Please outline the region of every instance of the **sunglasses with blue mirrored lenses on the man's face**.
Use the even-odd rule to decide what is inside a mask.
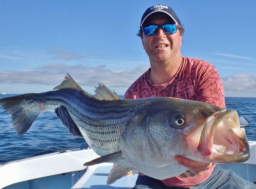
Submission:
[[[142,27],[142,32],[146,35],[154,35],[158,32],[159,27],[162,28],[164,33],[176,33],[177,29],[179,29],[177,23],[176,24],[151,24]]]

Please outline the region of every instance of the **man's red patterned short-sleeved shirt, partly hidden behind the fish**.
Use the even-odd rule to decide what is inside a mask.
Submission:
[[[150,69],[139,77],[125,92],[125,99],[147,97],[176,97],[206,102],[225,108],[224,88],[217,69],[204,60],[182,57],[182,63],[173,79],[162,85],[154,85],[149,79]],[[194,187],[204,182],[212,173],[215,164],[202,176],[164,179],[169,187]]]

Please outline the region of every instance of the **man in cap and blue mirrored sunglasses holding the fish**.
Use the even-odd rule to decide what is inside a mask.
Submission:
[[[138,36],[151,68],[129,87],[125,99],[177,97],[225,107],[223,84],[216,68],[204,60],[182,57],[180,47],[184,29],[171,7],[149,7],[140,26]],[[255,188],[216,164],[195,162],[181,156],[174,159],[189,170],[161,181],[140,174],[134,188]]]

